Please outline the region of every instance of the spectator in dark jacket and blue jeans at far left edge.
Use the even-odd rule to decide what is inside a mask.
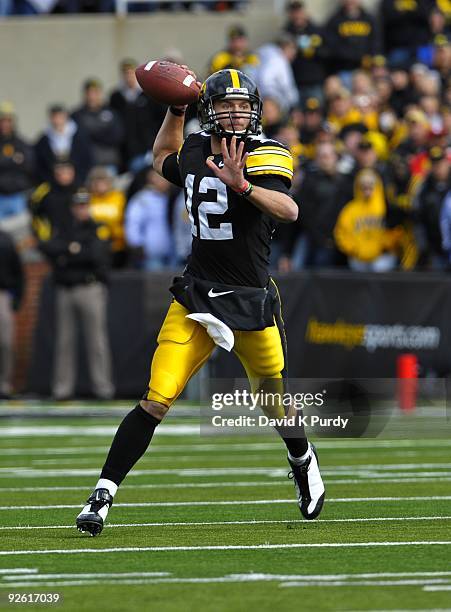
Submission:
[[[16,131],[14,108],[0,104],[0,220],[22,214],[27,207],[26,192],[33,184],[32,149]]]

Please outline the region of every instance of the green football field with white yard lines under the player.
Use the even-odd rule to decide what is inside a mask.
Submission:
[[[451,610],[450,439],[318,440],[327,500],[305,522],[275,435],[175,416],[92,538],[74,519],[121,420],[98,414],[0,421],[2,609]]]

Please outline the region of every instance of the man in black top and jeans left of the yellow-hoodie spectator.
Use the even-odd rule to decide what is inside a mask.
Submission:
[[[337,162],[333,144],[318,145],[315,162],[294,193],[302,213],[295,223],[284,225],[279,231],[284,253],[279,261],[280,270],[337,265],[333,230],[344,204],[346,182],[338,171]]]

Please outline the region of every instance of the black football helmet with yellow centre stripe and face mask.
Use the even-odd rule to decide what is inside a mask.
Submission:
[[[249,115],[249,125],[244,132],[228,131],[221,126],[219,120],[231,119],[232,113],[230,111],[215,112],[214,102],[227,98],[241,98],[250,102],[250,112],[240,111],[240,116]],[[246,136],[258,135],[262,131],[262,113],[263,104],[257,86],[244,72],[232,69],[219,70],[209,76],[201,87],[197,102],[197,117],[200,127],[208,134],[215,134],[221,138],[234,135],[246,138]]]

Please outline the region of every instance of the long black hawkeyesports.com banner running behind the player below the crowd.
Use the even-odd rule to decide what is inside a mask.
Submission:
[[[116,273],[108,326],[119,396],[146,389],[156,338],[176,272]],[[401,353],[417,355],[421,371],[451,371],[451,278],[433,273],[355,274],[345,271],[275,277],[288,339],[290,378],[393,378]],[[54,288],[44,286],[29,391],[48,394],[55,339]],[[90,383],[79,338],[77,394]],[[217,349],[214,378],[244,375],[238,359]]]

